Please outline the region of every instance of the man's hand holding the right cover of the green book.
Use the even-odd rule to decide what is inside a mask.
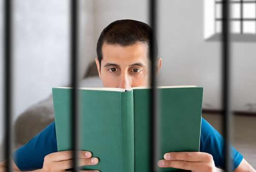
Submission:
[[[195,172],[216,171],[212,155],[205,152],[170,152],[158,161],[159,167],[173,167]]]

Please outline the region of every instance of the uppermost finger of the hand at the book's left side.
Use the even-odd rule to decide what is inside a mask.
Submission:
[[[49,155],[45,156],[45,161],[63,161],[69,160],[73,158],[73,151],[61,151],[61,152],[54,152]],[[79,151],[79,158],[90,158],[91,152],[89,151]]]

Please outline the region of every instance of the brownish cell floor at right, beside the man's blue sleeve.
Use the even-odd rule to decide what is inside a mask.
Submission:
[[[203,114],[203,117],[219,132],[221,130],[222,117],[219,114]],[[256,169],[256,117],[234,116],[233,117],[233,138],[234,146]]]

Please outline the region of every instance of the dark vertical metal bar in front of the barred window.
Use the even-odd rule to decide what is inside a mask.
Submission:
[[[222,6],[222,108],[223,108],[223,129],[225,138],[225,169],[232,171],[231,164],[231,73],[230,73],[230,0],[223,0]]]

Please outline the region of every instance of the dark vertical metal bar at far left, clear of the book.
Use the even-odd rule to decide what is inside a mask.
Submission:
[[[5,159],[6,171],[12,171],[12,1],[4,1],[4,56],[5,56]]]

